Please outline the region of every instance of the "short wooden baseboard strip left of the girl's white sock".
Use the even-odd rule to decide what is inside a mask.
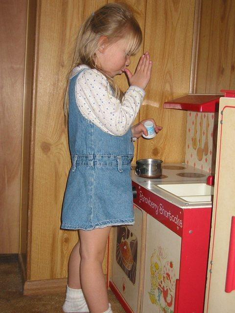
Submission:
[[[24,282],[24,295],[66,292],[67,278],[28,280]]]

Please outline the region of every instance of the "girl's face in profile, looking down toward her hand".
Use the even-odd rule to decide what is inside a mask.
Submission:
[[[110,77],[124,73],[124,68],[130,65],[130,55],[126,52],[128,42],[125,38],[114,44],[102,45],[96,51],[96,64]]]

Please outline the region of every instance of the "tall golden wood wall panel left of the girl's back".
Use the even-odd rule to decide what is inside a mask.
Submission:
[[[99,1],[39,1],[30,280],[67,276],[76,231],[60,229],[71,160],[63,96],[79,25]]]

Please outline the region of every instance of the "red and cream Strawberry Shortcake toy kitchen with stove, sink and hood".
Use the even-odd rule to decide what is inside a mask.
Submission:
[[[115,227],[109,277],[127,313],[216,313],[204,308],[219,102],[226,97],[190,94],[164,103],[188,110],[185,162],[162,163],[158,178],[132,170],[135,224]]]

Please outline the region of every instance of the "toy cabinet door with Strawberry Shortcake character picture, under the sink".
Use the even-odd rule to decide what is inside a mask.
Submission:
[[[173,312],[181,237],[147,215],[142,313]]]

